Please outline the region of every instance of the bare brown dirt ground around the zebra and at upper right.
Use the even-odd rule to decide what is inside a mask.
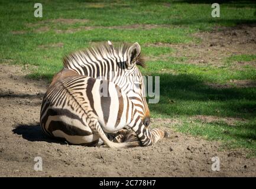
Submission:
[[[206,54],[218,54],[222,58],[238,53],[238,49],[241,53],[255,53],[255,48],[252,48],[255,41],[250,40],[255,39],[253,31],[255,25],[205,32],[197,34],[197,37],[204,39],[202,44],[171,47],[194,53],[195,49],[200,49],[200,53],[190,57],[190,60],[199,64],[214,64],[218,62],[218,56],[205,60],[203,58],[210,57]],[[230,44],[224,39],[231,41]],[[256,158],[247,158],[242,150],[223,149],[218,142],[174,132],[170,128],[177,120],[173,119],[153,119],[151,126],[160,126],[170,133],[170,138],[144,148],[116,150],[106,146],[68,145],[50,139],[39,126],[41,100],[48,84],[44,80],[26,79],[28,70],[25,68],[0,64],[1,177],[256,176]],[[200,119],[199,116],[196,118]],[[35,157],[43,159],[43,171],[34,170]],[[219,171],[212,170],[212,157],[219,158]]]

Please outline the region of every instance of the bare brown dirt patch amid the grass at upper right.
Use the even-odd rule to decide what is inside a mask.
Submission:
[[[186,63],[221,67],[225,58],[239,54],[256,54],[256,25],[238,25],[236,27],[216,27],[210,32],[193,34],[200,43],[190,44],[147,44],[153,47],[170,47],[176,49],[172,57],[187,57]],[[168,56],[167,56],[168,57]],[[166,58],[158,57],[159,60]],[[244,63],[247,64],[247,63]],[[255,61],[252,62],[255,66]],[[236,64],[236,69],[243,64]]]

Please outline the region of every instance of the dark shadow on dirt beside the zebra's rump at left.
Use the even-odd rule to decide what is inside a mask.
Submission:
[[[42,130],[39,123],[31,123],[31,124],[19,124],[12,130],[17,135],[21,135],[22,138],[31,141],[44,141],[49,143],[59,143],[59,144],[67,144],[63,141],[63,139],[56,139],[47,136]]]

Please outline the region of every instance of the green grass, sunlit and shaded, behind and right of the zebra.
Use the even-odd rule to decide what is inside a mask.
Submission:
[[[225,84],[230,80],[256,80],[256,69],[245,66],[230,69],[236,61],[255,61],[256,54],[226,57],[222,67],[189,64],[187,57],[174,57],[176,49],[148,45],[155,43],[200,43],[192,34],[210,31],[215,26],[234,26],[256,22],[253,1],[229,1],[221,4],[221,18],[212,18],[210,1],[41,1],[43,18],[34,17],[34,1],[0,2],[0,63],[30,65],[34,79],[51,80],[62,67],[62,57],[70,51],[85,48],[92,42],[125,41],[141,44],[142,53],[153,60],[142,73],[160,76],[160,102],[150,104],[153,118],[176,118],[179,132],[222,141],[231,148],[247,148],[256,155],[256,88],[214,89],[206,83]],[[88,19],[85,23],[61,24],[49,19]],[[46,24],[48,31],[34,32]],[[28,25],[30,23],[30,25]],[[34,25],[33,25],[34,24]],[[158,27],[104,28],[132,24],[154,24]],[[93,30],[77,30],[93,27]],[[74,30],[57,33],[56,30]],[[22,31],[13,34],[13,31]],[[63,47],[41,48],[40,45],[63,43]],[[161,60],[161,57],[164,57]],[[164,70],[164,71],[163,71]],[[195,115],[245,119],[235,126],[225,122],[190,122]]]

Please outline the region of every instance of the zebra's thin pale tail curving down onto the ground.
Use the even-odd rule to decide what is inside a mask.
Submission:
[[[101,128],[101,124],[98,122],[98,119],[96,118],[90,118],[88,119],[88,125],[90,129],[92,129],[92,132],[99,136],[99,138],[102,139],[104,144],[109,146],[109,148],[132,148],[134,146],[138,146],[137,141],[131,141],[131,142],[122,142],[122,143],[116,143],[112,142],[108,139],[105,132]]]

